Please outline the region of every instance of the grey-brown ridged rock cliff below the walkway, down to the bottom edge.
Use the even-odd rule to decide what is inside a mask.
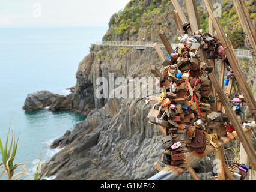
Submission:
[[[115,78],[150,77],[149,67],[159,65],[159,58],[153,49],[142,53],[129,49],[122,55],[123,49],[106,47],[100,56],[95,49],[79,64],[73,97],[78,98],[77,106],[84,106],[77,109],[86,111],[87,100],[94,100],[96,109],[62,140],[65,147],[47,164],[47,175],[56,174],[56,179],[146,179],[156,173],[153,163],[159,158],[160,133],[148,124],[145,101],[88,98],[84,92],[95,92],[96,78],[109,79],[109,73]]]

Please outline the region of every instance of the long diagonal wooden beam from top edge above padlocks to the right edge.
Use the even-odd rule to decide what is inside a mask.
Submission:
[[[256,121],[256,102],[254,97],[252,96],[251,90],[249,89],[249,86],[246,83],[245,76],[243,76],[242,70],[240,68],[238,59],[236,57],[236,53],[234,52],[233,47],[231,46],[230,41],[225,35],[225,32],[223,31],[221,27],[221,23],[217,18],[215,18],[213,14],[213,7],[209,0],[203,0],[204,4],[206,4],[206,8],[208,10],[209,16],[211,17],[213,21],[213,26],[218,34],[219,39],[221,40],[222,46],[227,47],[225,49],[225,53],[227,55],[228,61],[230,63],[231,68],[234,71],[234,75],[236,76],[236,80],[239,83],[239,87],[242,89],[243,96],[245,97],[245,100],[248,104],[249,110],[252,113],[252,116],[254,117],[254,120]],[[254,162],[255,163],[255,162]]]

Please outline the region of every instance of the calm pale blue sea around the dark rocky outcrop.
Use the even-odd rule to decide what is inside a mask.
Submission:
[[[21,179],[32,179],[40,152],[43,161],[52,157],[59,149],[50,149],[50,143],[85,119],[71,111],[25,112],[26,95],[39,90],[69,94],[66,88],[75,86],[79,62],[106,31],[106,26],[0,28],[0,138],[5,143],[10,123],[16,139],[20,133],[14,163],[28,161],[31,175]]]

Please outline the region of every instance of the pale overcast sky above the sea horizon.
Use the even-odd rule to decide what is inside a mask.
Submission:
[[[0,27],[107,26],[130,0],[0,0]]]

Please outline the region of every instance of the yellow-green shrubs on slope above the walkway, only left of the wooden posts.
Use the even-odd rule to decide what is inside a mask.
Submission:
[[[109,21],[109,31],[104,40],[115,40],[117,38],[129,40],[129,37],[137,34],[141,27],[150,28],[154,22],[162,25],[162,14],[171,13],[170,6],[171,1],[168,0],[131,0],[124,10],[112,15]]]

